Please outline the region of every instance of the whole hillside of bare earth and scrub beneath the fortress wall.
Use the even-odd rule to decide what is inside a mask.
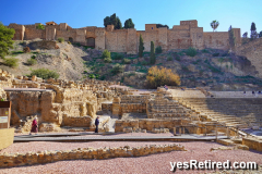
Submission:
[[[210,86],[218,90],[237,90],[262,85],[262,80],[255,77],[257,71],[249,60],[223,50],[190,48],[162,52],[157,48],[156,61],[152,64],[150,52],[143,52],[142,58],[139,58],[139,54],[109,51],[103,53],[67,41],[57,42],[57,49],[31,48],[31,52],[24,53],[24,47],[29,46],[32,41],[15,41],[7,59],[16,59],[17,66],[7,66],[1,60],[0,69],[15,75],[29,75],[34,70],[48,69],[57,72],[59,78],[63,79],[120,80],[129,86],[144,88],[148,69],[163,66],[177,74],[181,86],[187,87]]]

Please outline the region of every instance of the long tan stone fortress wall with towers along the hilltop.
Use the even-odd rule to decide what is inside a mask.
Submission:
[[[171,29],[167,27],[156,27],[156,24],[145,24],[145,30],[115,29],[114,25],[107,27],[83,27],[72,28],[67,23],[48,22],[45,29],[37,29],[40,23],[34,25],[10,24],[10,28],[15,29],[14,40],[32,40],[36,38],[45,40],[56,40],[59,37],[67,41],[80,42],[96,49],[108,49],[112,52],[138,53],[140,34],[144,40],[144,51],[150,51],[151,41],[155,46],[160,46],[163,50],[213,48],[228,49],[228,32],[203,32],[203,27],[198,26],[198,21],[180,21],[180,25],[174,25]],[[241,44],[240,28],[233,28],[237,46]]]

